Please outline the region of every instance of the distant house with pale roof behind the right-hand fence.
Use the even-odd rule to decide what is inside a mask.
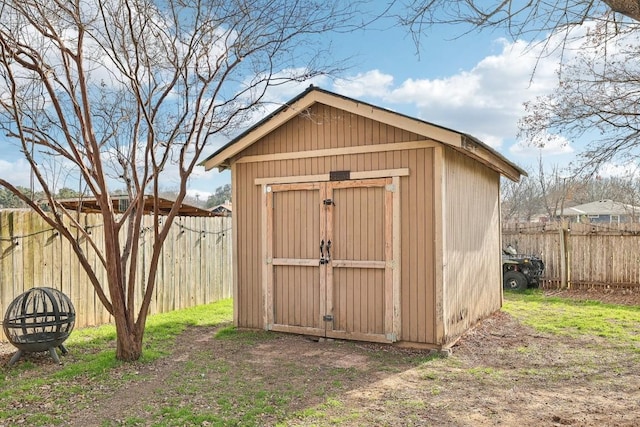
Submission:
[[[640,206],[628,205],[613,200],[598,200],[558,210],[557,217],[572,222],[613,223],[637,222]]]

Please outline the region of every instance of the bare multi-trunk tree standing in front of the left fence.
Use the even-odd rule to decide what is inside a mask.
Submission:
[[[142,354],[160,250],[207,144],[255,113],[269,87],[334,71],[318,37],[350,28],[358,8],[326,0],[0,1],[0,127],[51,212],[7,179],[0,185],[69,241],[113,315],[118,359]],[[64,164],[97,199],[104,248],[56,202],[42,159]],[[175,205],[162,220],[154,207],[144,230],[143,196],[157,196],[166,174],[179,182]],[[117,214],[110,194],[123,186],[130,205]],[[138,284],[143,232],[153,235],[153,253]]]

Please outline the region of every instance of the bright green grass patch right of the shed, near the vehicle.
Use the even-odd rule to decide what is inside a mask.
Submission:
[[[596,336],[640,351],[640,307],[545,297],[541,291],[505,293],[504,310],[540,332]]]

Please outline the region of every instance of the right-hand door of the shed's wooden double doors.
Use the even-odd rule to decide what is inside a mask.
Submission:
[[[387,341],[386,181],[330,184],[327,233],[332,260],[327,287],[333,322],[327,336]]]

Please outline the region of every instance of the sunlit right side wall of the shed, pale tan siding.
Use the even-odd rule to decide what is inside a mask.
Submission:
[[[444,337],[447,344],[502,304],[499,175],[445,150]]]

